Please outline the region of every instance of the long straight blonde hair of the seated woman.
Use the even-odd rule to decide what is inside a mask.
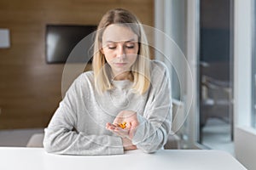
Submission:
[[[135,93],[144,94],[150,86],[148,41],[143,26],[139,20],[137,20],[137,17],[123,8],[109,10],[104,14],[97,27],[92,61],[96,91],[99,94],[102,94],[106,90],[113,88],[110,75],[111,68],[107,63],[104,54],[101,52],[102,34],[106,27],[112,24],[126,26],[138,37],[139,50],[137,59],[134,65],[131,66],[131,80],[133,81],[132,88],[135,90]]]

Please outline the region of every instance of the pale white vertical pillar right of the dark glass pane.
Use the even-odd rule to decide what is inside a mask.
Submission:
[[[251,123],[252,0],[235,0],[234,35],[234,122]]]

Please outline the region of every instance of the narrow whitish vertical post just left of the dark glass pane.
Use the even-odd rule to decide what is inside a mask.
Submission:
[[[199,0],[189,0],[187,3],[187,58],[189,61],[191,73],[193,76],[193,86],[187,86],[188,95],[193,96],[191,107],[187,106],[189,111],[188,117],[188,147],[197,148],[199,139],[199,101],[197,92],[198,89],[198,65],[199,65]],[[188,71],[189,72],[189,71]],[[187,74],[189,76],[189,73]],[[189,79],[189,78],[187,78]],[[186,101],[189,103],[189,101]]]

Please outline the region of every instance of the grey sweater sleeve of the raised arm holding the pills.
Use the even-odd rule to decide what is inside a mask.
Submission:
[[[163,147],[172,127],[172,95],[168,71],[160,63],[156,70],[152,73],[152,88],[146,109],[142,115],[137,114],[140,123],[132,139],[132,143],[146,153]]]

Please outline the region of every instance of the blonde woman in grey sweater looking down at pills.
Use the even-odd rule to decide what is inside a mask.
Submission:
[[[45,128],[44,148],[56,154],[151,153],[171,130],[171,88],[166,66],[149,59],[137,17],[121,8],[102,17],[93,71],[68,89]]]

